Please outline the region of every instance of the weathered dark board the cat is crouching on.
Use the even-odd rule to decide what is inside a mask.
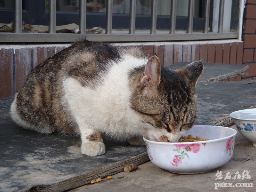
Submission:
[[[177,63],[171,68],[185,66]],[[207,81],[245,66],[204,64],[196,92],[196,124],[255,105],[256,82]],[[9,115],[13,98],[0,99],[0,191],[63,191],[82,186],[94,177],[121,172],[127,163],[148,161],[145,147],[107,142],[106,154],[89,157],[80,152],[74,136],[39,134],[16,126]]]

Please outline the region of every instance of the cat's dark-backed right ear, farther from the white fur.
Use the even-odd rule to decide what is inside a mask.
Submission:
[[[196,83],[203,71],[204,65],[202,60],[190,63],[183,69],[178,69],[178,72],[185,76],[193,87],[196,87]]]

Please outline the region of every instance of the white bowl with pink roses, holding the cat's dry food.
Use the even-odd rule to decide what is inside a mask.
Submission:
[[[231,159],[235,145],[235,129],[195,125],[185,135],[189,134],[209,140],[167,143],[143,137],[150,161],[173,173],[195,174],[212,171]]]

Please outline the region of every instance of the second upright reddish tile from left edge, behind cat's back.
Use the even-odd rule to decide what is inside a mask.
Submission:
[[[31,49],[21,48],[15,50],[15,92],[24,85],[26,77],[31,70]]]

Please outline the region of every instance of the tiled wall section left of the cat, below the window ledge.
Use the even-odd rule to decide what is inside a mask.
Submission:
[[[0,46],[0,98],[14,95],[24,85],[31,69],[67,46]]]

